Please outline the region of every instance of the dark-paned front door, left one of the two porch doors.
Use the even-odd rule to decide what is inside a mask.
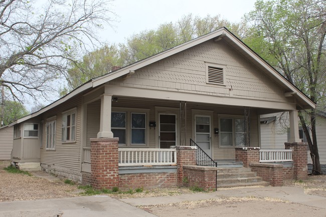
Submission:
[[[170,148],[177,144],[176,123],[175,114],[159,114],[159,148]]]

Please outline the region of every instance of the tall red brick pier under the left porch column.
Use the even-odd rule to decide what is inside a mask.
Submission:
[[[96,189],[119,186],[118,138],[91,140],[91,183]]]

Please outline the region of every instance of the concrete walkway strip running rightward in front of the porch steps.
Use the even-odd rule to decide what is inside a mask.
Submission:
[[[309,205],[313,207],[326,209],[326,197],[313,196],[305,194],[303,188],[299,187],[248,187],[236,189],[218,189],[211,193],[195,193],[182,194],[176,196],[160,196],[160,197],[143,197],[143,198],[128,198],[120,199],[130,205],[157,205],[168,204],[182,201],[196,201],[204,199],[217,199],[221,196],[235,197],[271,197],[295,202],[299,204]]]

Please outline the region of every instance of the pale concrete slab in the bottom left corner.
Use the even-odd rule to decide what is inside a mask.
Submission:
[[[0,217],[154,217],[109,196],[0,202]]]

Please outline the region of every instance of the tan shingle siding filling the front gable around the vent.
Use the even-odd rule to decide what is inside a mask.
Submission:
[[[206,83],[206,63],[225,65],[225,85]],[[223,43],[208,41],[109,84],[221,97],[289,102],[284,89]]]

